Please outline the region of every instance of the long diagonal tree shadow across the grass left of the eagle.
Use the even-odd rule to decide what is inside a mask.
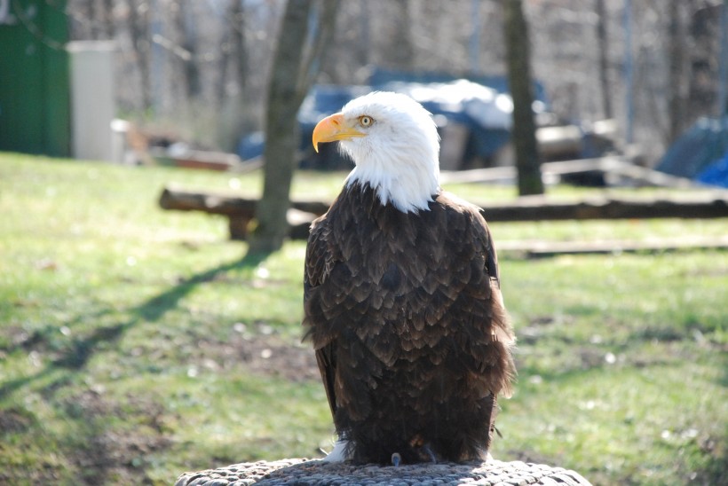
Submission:
[[[117,322],[112,325],[97,327],[91,331],[91,333],[73,339],[67,346],[63,347],[63,349],[59,351],[58,357],[51,360],[51,362],[46,364],[40,371],[0,384],[0,398],[4,398],[19,388],[25,387],[34,381],[49,376],[52,372],[59,369],[66,369],[72,372],[81,371],[99,348],[108,343],[115,343],[119,341],[123,337],[124,333],[140,323],[151,323],[161,319],[167,312],[178,307],[179,302],[185,298],[187,294],[192,292],[195,287],[206,282],[213,281],[215,278],[218,278],[219,275],[225,274],[231,270],[255,268],[260,263],[265,262],[265,259],[269,255],[270,253],[249,253],[240,260],[222,263],[217,267],[202,271],[201,273],[180,281],[177,285],[170,287],[161,294],[155,295],[146,302],[142,302],[137,307],[129,310],[132,315],[130,319],[123,322]],[[97,317],[103,317],[103,315],[108,314],[109,312],[109,310],[102,310],[97,313]],[[88,316],[79,316],[75,318],[75,321],[81,320],[88,320]],[[72,325],[73,323],[64,324]],[[53,328],[53,331],[55,331],[55,327]],[[33,342],[31,342],[29,347],[32,349],[32,347],[41,345],[42,341],[44,341],[43,335],[43,332],[34,335],[32,340]],[[28,345],[26,345],[26,347],[28,348]],[[66,382],[67,377],[59,378],[59,380]],[[50,386],[53,387],[53,385]]]

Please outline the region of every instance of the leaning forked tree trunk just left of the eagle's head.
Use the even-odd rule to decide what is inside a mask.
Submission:
[[[333,34],[338,0],[321,2],[319,28],[310,40],[312,4],[312,0],[289,0],[283,14],[268,88],[263,198],[256,210],[257,228],[250,239],[250,253],[280,249],[288,233],[286,215],[299,140],[298,108],[318,74],[323,48]]]

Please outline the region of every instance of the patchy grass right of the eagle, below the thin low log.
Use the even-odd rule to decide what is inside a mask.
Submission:
[[[503,266],[520,380],[502,401],[496,457],[568,464],[603,484],[724,481],[726,255]]]

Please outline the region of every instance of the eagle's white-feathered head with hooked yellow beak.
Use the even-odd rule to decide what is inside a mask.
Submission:
[[[356,167],[347,184],[369,184],[382,204],[427,209],[439,192],[439,136],[431,114],[408,96],[375,91],[313,129],[313,148],[338,140]]]

